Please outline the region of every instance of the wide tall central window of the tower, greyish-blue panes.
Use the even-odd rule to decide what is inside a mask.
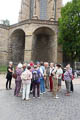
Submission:
[[[40,19],[47,20],[47,0],[40,0]]]

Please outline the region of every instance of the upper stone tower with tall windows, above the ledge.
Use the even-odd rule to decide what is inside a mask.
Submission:
[[[27,19],[58,20],[62,0],[22,0],[19,21]]]

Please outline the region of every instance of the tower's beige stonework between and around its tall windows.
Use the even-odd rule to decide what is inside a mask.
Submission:
[[[58,20],[58,18],[60,17],[62,0],[56,0],[56,1],[57,1],[57,3],[56,3],[56,20]],[[43,11],[43,12],[47,12],[46,13],[47,14],[46,20],[49,20],[52,17],[54,17],[54,5],[55,5],[54,0],[47,0],[47,6],[46,6],[47,9],[46,9],[46,11]],[[40,19],[40,13],[41,13],[41,11],[40,11],[40,7],[41,7],[40,6],[40,0],[36,0],[36,6],[34,6],[34,7],[35,8],[33,8],[33,14],[36,13],[37,18]],[[45,7],[45,4],[44,4],[44,7]],[[43,7],[43,9],[44,9],[44,7]],[[34,13],[34,11],[36,11],[36,12]],[[45,13],[44,13],[44,16],[45,16]],[[19,13],[19,21],[23,21],[23,20],[26,20],[26,19],[30,19],[30,0],[22,0],[21,10],[20,10],[20,13]]]

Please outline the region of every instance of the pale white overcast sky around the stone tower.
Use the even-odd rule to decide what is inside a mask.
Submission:
[[[63,0],[63,5],[68,1],[71,0]],[[21,0],[0,0],[0,21],[8,19],[10,24],[17,23],[20,8]]]

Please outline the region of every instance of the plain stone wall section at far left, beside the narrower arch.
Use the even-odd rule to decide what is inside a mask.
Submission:
[[[8,63],[8,29],[0,25],[0,65]]]

